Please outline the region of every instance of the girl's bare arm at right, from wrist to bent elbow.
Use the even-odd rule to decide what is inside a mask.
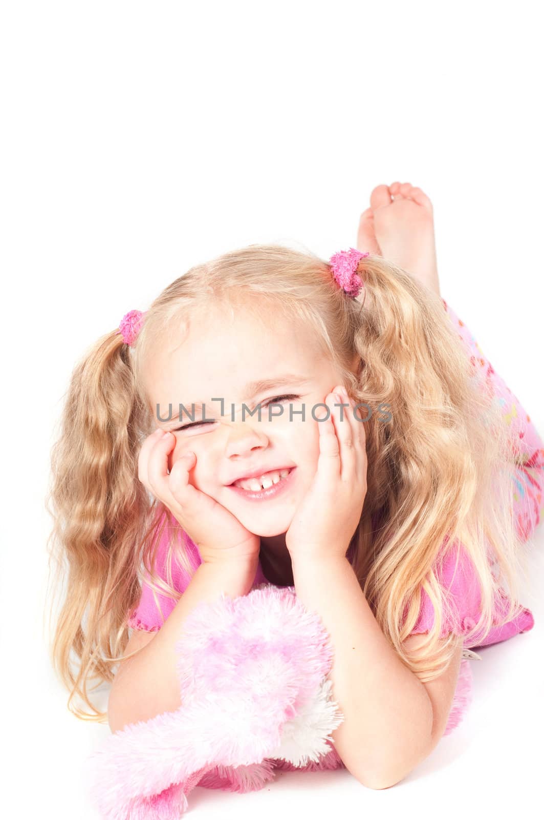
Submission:
[[[333,646],[329,680],[344,722],[332,737],[342,763],[363,786],[393,786],[444,732],[462,639],[447,672],[425,685],[383,635],[347,558],[295,554],[292,574],[297,598],[319,614]]]

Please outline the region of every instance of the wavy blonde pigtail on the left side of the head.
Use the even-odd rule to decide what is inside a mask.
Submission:
[[[72,372],[51,452],[46,503],[54,521],[48,538],[53,600],[65,595],[50,644],[52,665],[70,690],[70,711],[99,722],[105,722],[105,713],[88,699],[87,681],[112,681],[107,660],[128,641],[127,628],[118,625],[138,599],[135,547],[143,543],[142,522],[151,512],[138,481],[138,449],[149,417],[138,399],[130,355],[114,331]],[[79,660],[77,672],[71,650]],[[90,715],[72,705],[75,695],[91,708]]]

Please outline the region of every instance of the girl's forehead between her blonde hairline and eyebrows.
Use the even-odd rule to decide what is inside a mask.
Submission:
[[[144,383],[152,406],[238,401],[249,381],[286,372],[311,379],[323,367],[327,362],[307,322],[270,306],[233,313],[214,307],[172,326],[147,362]]]

